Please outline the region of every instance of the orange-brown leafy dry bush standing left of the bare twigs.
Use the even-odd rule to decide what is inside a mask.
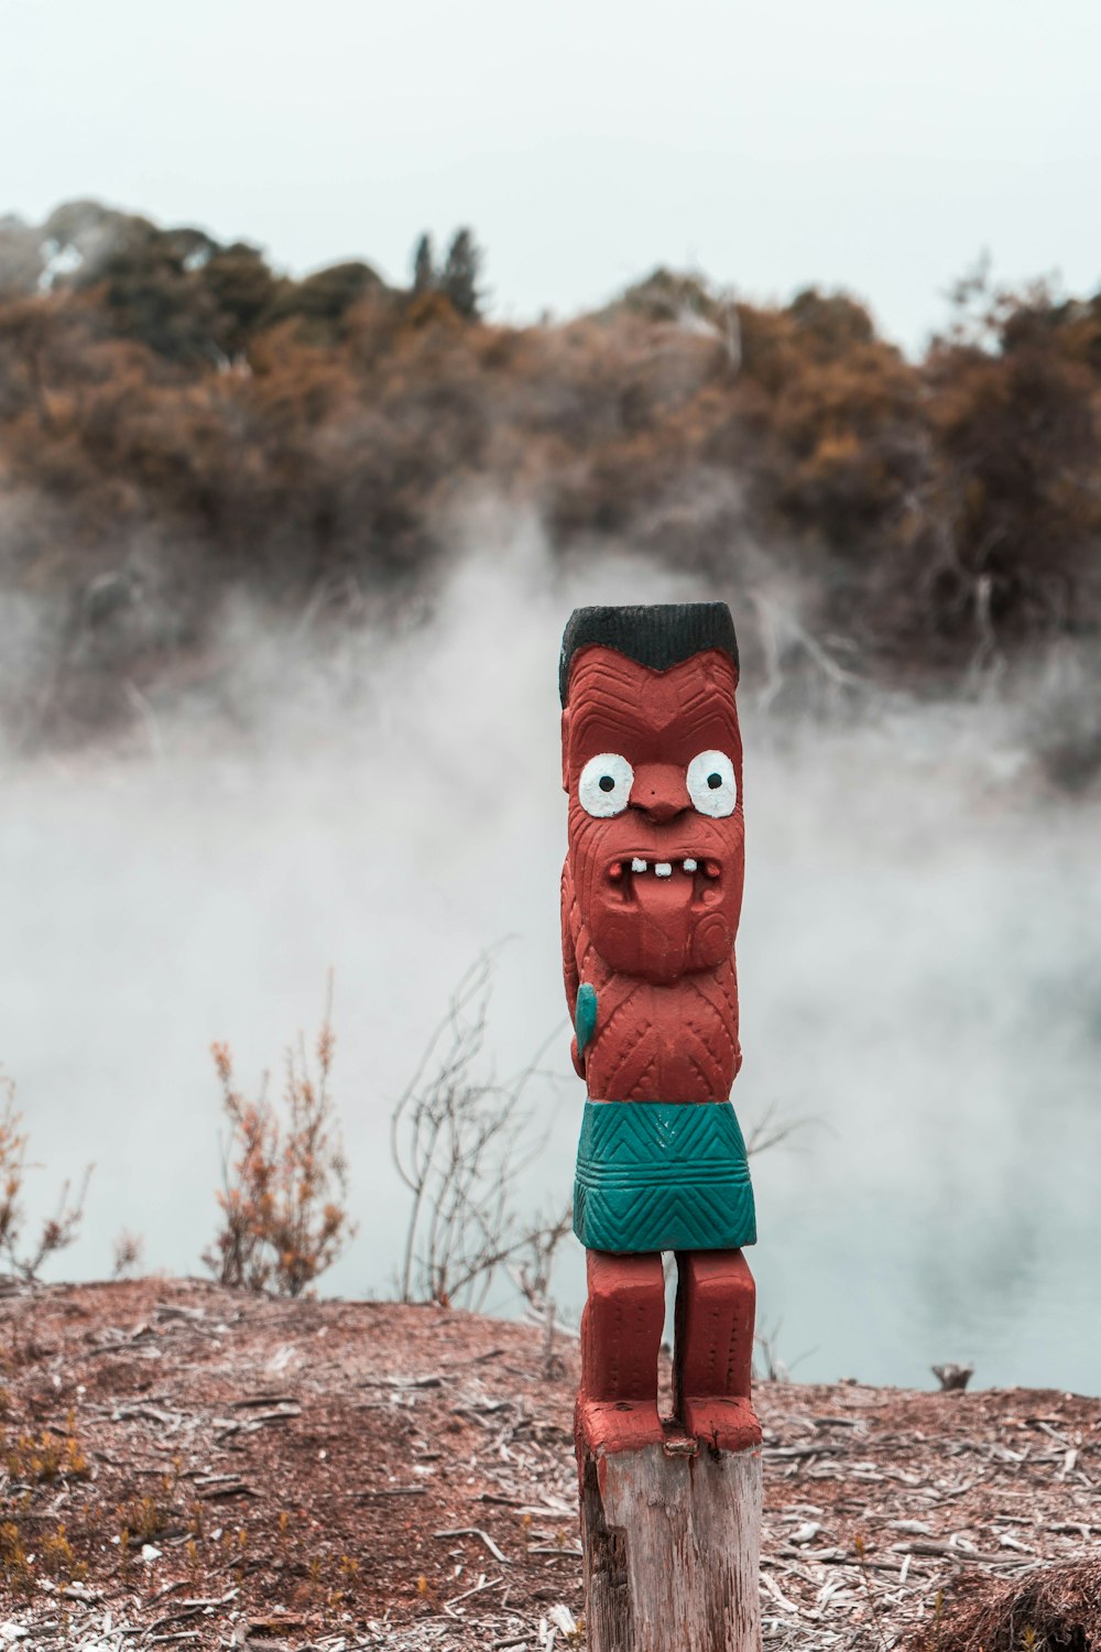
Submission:
[[[286,1051],[282,1112],[267,1097],[267,1074],[249,1100],[234,1087],[229,1046],[213,1046],[229,1135],[218,1193],[221,1227],[203,1262],[223,1285],[299,1297],[355,1232],[330,1090],[333,1047],[332,978],[315,1072],[300,1034]]]

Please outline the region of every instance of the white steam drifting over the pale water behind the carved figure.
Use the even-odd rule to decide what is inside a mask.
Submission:
[[[317,648],[241,610],[216,702],[149,714],[144,748],[0,770],[0,1061],[31,1130],[28,1206],[96,1163],[51,1277],[198,1272],[216,1224],[211,1039],[244,1084],[320,1018],[360,1232],[325,1275],[386,1294],[404,1232],[388,1118],[456,980],[499,953],[492,1042],[561,1023],[548,1145],[565,1199],[556,651],[581,601],[702,593],[629,557],[563,570],[532,522],[487,529],[431,616]],[[779,598],[776,598],[779,600]],[[865,697],[761,707],[746,638],[743,1046],[735,1087],[810,1118],[754,1161],[759,1323],[801,1378],[1101,1391],[1101,806],[1037,776],[1030,709]],[[583,1298],[579,1247],[558,1277]],[[512,1308],[507,1287],[489,1303]]]

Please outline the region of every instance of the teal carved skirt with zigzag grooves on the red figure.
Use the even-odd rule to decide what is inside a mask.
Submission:
[[[588,1251],[731,1251],[758,1237],[730,1102],[588,1102],[573,1184]]]

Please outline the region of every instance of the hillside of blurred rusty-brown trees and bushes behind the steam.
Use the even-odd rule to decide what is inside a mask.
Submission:
[[[428,256],[294,281],[94,202],[0,220],[0,717],[79,743],[216,682],[234,596],[365,624],[490,496],[553,555],[631,548],[837,681],[959,687],[1101,624],[1101,296],[961,282],[923,360],[867,309],[657,271],[606,311],[479,319]],[[748,628],[751,662],[777,646]]]

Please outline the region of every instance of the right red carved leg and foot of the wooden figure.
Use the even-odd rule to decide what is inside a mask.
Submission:
[[[677,1414],[685,1434],[721,1450],[761,1444],[749,1399],[754,1305],[741,1251],[677,1252]]]

